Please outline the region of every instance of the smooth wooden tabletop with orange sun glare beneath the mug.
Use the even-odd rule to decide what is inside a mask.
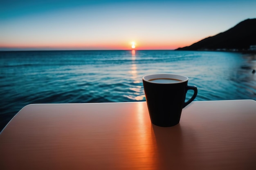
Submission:
[[[255,170],[256,101],[192,102],[168,128],[146,102],[31,104],[0,134],[0,169]]]

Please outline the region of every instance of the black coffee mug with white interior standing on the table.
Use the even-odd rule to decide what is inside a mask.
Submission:
[[[195,86],[188,86],[189,78],[182,75],[146,75],[142,80],[150,120],[157,126],[178,124],[182,108],[190,104],[198,93]],[[185,102],[188,90],[193,90],[194,94]]]

